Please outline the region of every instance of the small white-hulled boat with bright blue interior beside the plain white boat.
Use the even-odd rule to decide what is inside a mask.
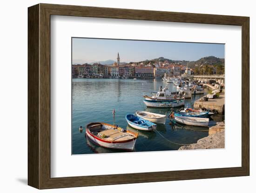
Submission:
[[[125,118],[126,118],[126,121],[128,122],[128,125],[130,125],[135,129],[150,131],[156,128],[155,123],[142,119],[139,116],[128,114],[126,115]]]

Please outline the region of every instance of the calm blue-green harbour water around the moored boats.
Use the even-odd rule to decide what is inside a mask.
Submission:
[[[94,154],[124,152],[99,147],[85,137],[85,127],[89,122],[106,122],[113,124],[112,111],[115,109],[115,124],[123,129],[139,133],[135,152],[177,150],[182,145],[196,143],[208,136],[208,128],[169,124],[157,125],[156,131],[141,131],[128,126],[125,116],[136,110],[168,115],[171,109],[147,108],[143,95],[151,96],[159,87],[165,86],[161,79],[103,79],[73,78],[72,80],[72,154]],[[168,89],[176,91],[174,84]],[[208,90],[205,90],[207,94]],[[204,94],[194,95],[185,100],[185,107],[193,107],[195,100]],[[180,107],[179,107],[180,108]],[[177,108],[177,109],[179,109]],[[210,125],[222,121],[221,116],[212,116]],[[80,131],[79,127],[83,130]],[[178,144],[177,144],[178,143]]]

